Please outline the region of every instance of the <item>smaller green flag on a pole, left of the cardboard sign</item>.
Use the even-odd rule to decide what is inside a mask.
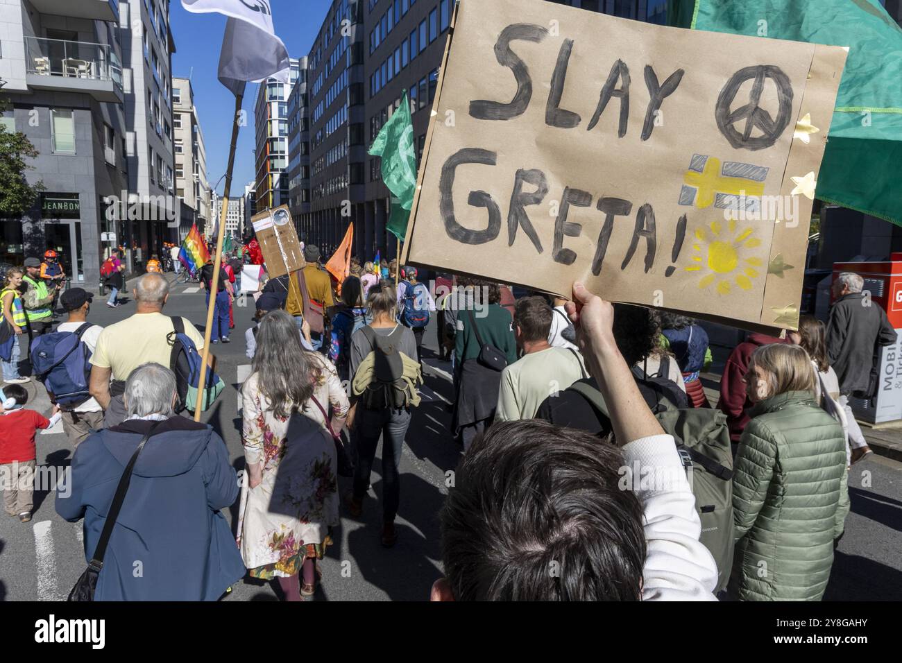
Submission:
[[[413,193],[417,189],[417,153],[413,146],[413,123],[410,122],[410,101],[407,91],[391,119],[382,126],[370,154],[382,157],[382,181],[394,196],[391,198],[391,217],[385,226],[401,242],[407,232]]]

